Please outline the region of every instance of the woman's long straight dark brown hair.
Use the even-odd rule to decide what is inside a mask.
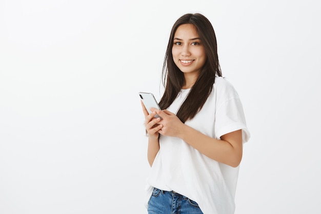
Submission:
[[[194,118],[196,113],[202,109],[208,96],[212,92],[215,75],[222,76],[222,71],[220,70],[218,62],[216,36],[210,21],[199,13],[188,13],[181,16],[174,23],[169,37],[162,72],[165,91],[162,99],[159,101],[159,107],[161,109],[167,109],[173,103],[184,85],[184,73],[175,65],[172,55],[175,32],[177,28],[183,24],[192,24],[196,27],[207,56],[206,62],[195,84],[176,114],[177,117],[185,123],[187,120]]]

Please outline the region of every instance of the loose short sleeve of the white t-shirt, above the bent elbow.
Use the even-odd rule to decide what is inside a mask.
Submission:
[[[246,126],[243,106],[239,98],[231,98],[217,106],[214,127],[217,138],[242,129],[243,143],[249,140],[250,133]]]

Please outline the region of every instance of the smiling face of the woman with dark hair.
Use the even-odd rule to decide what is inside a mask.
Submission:
[[[174,34],[173,60],[184,75],[198,76],[205,64],[205,49],[192,24],[180,25]]]

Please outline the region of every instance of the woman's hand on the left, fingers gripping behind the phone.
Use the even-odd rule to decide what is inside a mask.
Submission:
[[[159,133],[158,131],[162,129],[163,125],[157,124],[161,119],[160,118],[154,118],[156,115],[156,112],[153,111],[152,113],[148,113],[145,105],[141,101],[143,112],[145,115],[145,127],[146,131],[148,133],[148,137],[152,139],[158,139]]]

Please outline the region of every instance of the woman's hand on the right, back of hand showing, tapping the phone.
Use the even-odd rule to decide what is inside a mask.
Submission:
[[[162,118],[162,120],[157,122],[158,124],[163,125],[163,128],[158,130],[158,133],[170,137],[179,136],[184,123],[182,123],[182,121],[180,121],[173,112],[170,112],[168,110],[158,110],[155,108],[151,108],[151,110],[155,111]]]

